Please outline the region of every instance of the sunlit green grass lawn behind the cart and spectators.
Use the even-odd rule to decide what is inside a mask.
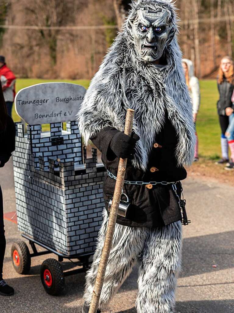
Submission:
[[[18,79],[16,90],[43,83],[43,82],[68,82],[75,83],[88,88],[89,80],[42,80],[42,79]],[[201,106],[197,116],[197,134],[199,138],[199,156],[208,159],[216,159],[220,155],[220,127],[216,111],[218,91],[215,80],[201,80]],[[14,108],[12,111],[14,121],[20,121]],[[48,129],[43,127],[43,131]]]

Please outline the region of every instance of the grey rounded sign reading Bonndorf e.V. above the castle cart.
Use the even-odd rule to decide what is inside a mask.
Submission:
[[[15,109],[29,125],[75,121],[85,91],[70,83],[33,85],[17,93]]]

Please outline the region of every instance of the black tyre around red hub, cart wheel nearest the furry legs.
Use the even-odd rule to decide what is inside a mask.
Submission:
[[[44,271],[49,270],[52,277],[51,286],[46,285]],[[56,259],[46,259],[41,264],[41,283],[49,295],[59,295],[65,287],[63,269]]]

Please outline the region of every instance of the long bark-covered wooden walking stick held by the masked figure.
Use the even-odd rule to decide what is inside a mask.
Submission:
[[[125,121],[124,134],[131,136],[132,124],[133,124],[134,110],[128,109]],[[124,186],[124,177],[126,171],[127,159],[119,159],[117,179],[115,183],[115,191],[112,200],[112,206],[110,209],[109,222],[107,225],[107,231],[105,235],[104,246],[102,249],[101,259],[98,267],[98,273],[95,280],[95,286],[93,290],[92,300],[89,308],[89,313],[96,313],[99,305],[99,299],[101,295],[102,286],[105,279],[105,271],[107,266],[107,261],[110,254],[110,249],[112,245],[113,235],[115,231],[115,223],[119,208],[119,202],[121,199],[121,194]]]

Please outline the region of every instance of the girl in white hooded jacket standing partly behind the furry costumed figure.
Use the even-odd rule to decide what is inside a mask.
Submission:
[[[195,126],[196,146],[194,151],[194,161],[198,161],[198,137],[196,131],[197,112],[200,107],[200,86],[199,80],[194,76],[193,62],[188,59],[182,59],[182,65],[185,73],[186,84],[188,86],[192,108],[193,108],[193,122]]]

